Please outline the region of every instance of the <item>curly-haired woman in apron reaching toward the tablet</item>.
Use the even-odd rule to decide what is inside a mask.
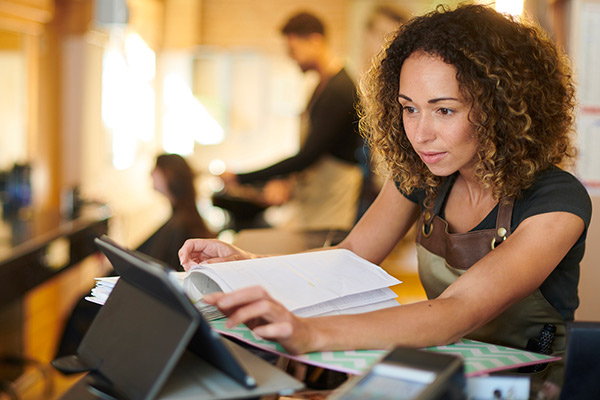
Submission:
[[[291,353],[462,337],[523,349],[545,324],[563,351],[591,218],[586,189],[558,167],[575,156],[565,56],[539,28],[489,7],[438,7],[400,28],[361,94],[361,126],[388,180],[337,247],[381,263],[417,223],[428,300],[317,318],[260,287],[205,301],[228,326],[245,323]],[[186,269],[257,257],[216,240],[190,240],[179,255]]]

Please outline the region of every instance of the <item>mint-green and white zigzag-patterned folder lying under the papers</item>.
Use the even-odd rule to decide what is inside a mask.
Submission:
[[[262,350],[280,354],[306,364],[349,374],[364,373],[387,354],[385,350],[353,350],[323,351],[292,356],[278,343],[261,339],[246,326],[239,325],[228,329],[225,328],[224,319],[211,321],[210,325],[223,335],[232,336]],[[461,356],[464,361],[465,376],[467,377],[560,360],[560,357],[550,357],[468,339],[461,339],[458,343],[448,346],[428,347],[426,350]]]

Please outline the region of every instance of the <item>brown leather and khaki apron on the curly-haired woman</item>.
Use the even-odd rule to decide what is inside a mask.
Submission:
[[[449,233],[448,223],[439,214],[453,182],[454,179],[446,180],[433,208],[422,211],[417,226],[419,277],[429,299],[438,297],[511,233],[513,199],[499,203],[494,229]],[[497,267],[502,268],[502,265]],[[565,321],[538,288],[489,323],[469,333],[467,338],[525,349],[527,341],[537,339],[547,323],[556,326],[553,354],[561,355],[565,348]]]

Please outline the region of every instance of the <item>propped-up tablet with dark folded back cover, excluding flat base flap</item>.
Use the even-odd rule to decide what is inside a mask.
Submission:
[[[133,399],[153,397],[186,349],[245,387],[255,385],[170,278],[168,266],[105,236],[95,242],[121,277],[78,356],[108,378],[117,393]]]

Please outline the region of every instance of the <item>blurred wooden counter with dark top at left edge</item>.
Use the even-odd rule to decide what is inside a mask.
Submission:
[[[99,264],[88,256],[108,221],[107,209],[96,207],[72,220],[32,214],[0,222],[0,379],[22,374],[14,360],[52,359],[74,300],[93,286],[96,267],[86,261]]]

